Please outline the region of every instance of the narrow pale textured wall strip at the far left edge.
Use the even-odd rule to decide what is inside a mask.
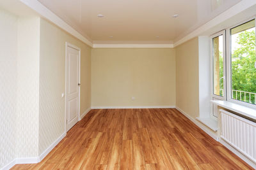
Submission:
[[[0,169],[15,158],[17,17],[0,10]]]

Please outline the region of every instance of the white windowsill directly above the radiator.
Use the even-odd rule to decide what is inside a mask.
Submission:
[[[236,113],[244,115],[245,117],[253,118],[256,120],[256,110],[252,108],[248,108],[240,104],[232,103],[230,101],[211,101],[211,102],[214,104],[217,104],[218,106],[226,108],[227,110],[234,111]]]

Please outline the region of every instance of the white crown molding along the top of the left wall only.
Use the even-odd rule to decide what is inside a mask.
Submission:
[[[61,27],[61,29],[67,31],[72,36],[75,36],[77,39],[83,41],[83,43],[86,43],[88,46],[93,46],[92,41],[85,38],[82,34],[76,31],[73,27],[68,25],[66,22],[64,22],[60,17],[58,17],[56,14],[52,13],[48,8],[46,8],[43,4],[41,4],[39,1],[36,0],[20,0],[20,2],[26,4],[29,8],[32,10],[35,10],[37,13],[39,13],[42,17],[47,18],[47,20],[51,21],[52,23],[58,25]]]

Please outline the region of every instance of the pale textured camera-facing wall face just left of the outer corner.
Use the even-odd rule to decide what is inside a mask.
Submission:
[[[40,18],[19,17],[16,157],[38,156],[39,38]]]

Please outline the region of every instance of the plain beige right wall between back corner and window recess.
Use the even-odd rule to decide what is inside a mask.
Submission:
[[[196,118],[199,116],[198,38],[193,38],[176,50],[176,106]]]

